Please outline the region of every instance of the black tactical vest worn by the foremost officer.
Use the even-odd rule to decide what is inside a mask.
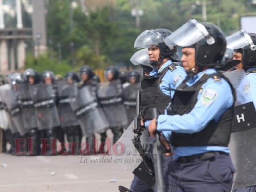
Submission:
[[[209,79],[221,81],[225,79],[231,86],[232,95],[235,100],[235,90],[229,80],[217,72],[214,74],[204,74],[199,81],[192,86],[187,86],[186,82],[190,79],[187,77],[175,90],[173,96],[173,108],[176,114],[183,115],[189,113],[197,103],[198,93],[202,89],[202,85]],[[220,117],[218,122],[211,120],[207,126],[200,132],[193,134],[172,133],[172,146],[228,146],[232,128],[234,104]],[[174,114],[173,114],[174,115]],[[202,114],[203,115],[203,114]],[[187,126],[190,126],[189,124]]]

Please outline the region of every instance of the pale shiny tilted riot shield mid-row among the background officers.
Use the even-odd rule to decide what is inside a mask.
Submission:
[[[84,135],[104,132],[109,128],[108,120],[98,105],[90,85],[77,89],[76,100],[77,102],[71,102],[70,105],[75,111]]]

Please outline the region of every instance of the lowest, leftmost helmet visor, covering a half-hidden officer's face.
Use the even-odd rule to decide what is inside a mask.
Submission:
[[[142,64],[142,65],[145,65],[145,66],[150,66],[150,60],[149,60],[149,56],[148,56],[148,49],[144,48],[144,49],[141,49],[141,50],[137,51],[130,58],[130,61],[134,65]]]

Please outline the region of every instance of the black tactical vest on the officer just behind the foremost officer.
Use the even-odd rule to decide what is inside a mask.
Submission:
[[[160,91],[159,85],[167,70],[175,70],[175,64],[170,64],[164,68],[157,77],[145,77],[141,81],[141,108],[140,114],[143,120],[152,120],[152,109],[157,108],[159,114],[164,114],[164,110],[171,102],[171,96]],[[171,92],[171,90],[170,90]]]

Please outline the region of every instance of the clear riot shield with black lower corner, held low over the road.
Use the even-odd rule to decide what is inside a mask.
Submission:
[[[155,184],[155,177],[154,174],[148,170],[150,164],[153,166],[152,162],[149,155],[147,158],[148,160],[143,159],[141,156],[142,150],[149,153],[149,133],[147,130],[143,131],[140,136],[141,144],[134,144],[133,142],[137,135],[134,134],[133,130],[134,121],[131,122],[119,140],[111,147],[109,155],[113,158],[113,162],[120,163],[124,168],[131,171],[148,186],[153,188]],[[135,147],[135,145],[139,145],[139,147]]]

